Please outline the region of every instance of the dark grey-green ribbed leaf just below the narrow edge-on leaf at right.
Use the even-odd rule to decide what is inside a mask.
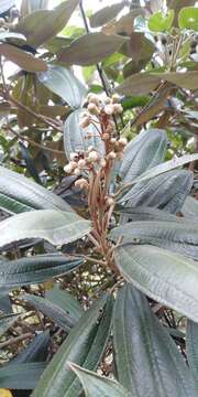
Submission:
[[[121,200],[129,207],[146,205],[176,213],[182,210],[194,184],[194,174],[186,170],[169,171],[147,182],[135,184]]]

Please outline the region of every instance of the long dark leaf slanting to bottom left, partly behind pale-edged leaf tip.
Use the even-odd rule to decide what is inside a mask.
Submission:
[[[107,303],[106,303],[107,302]],[[103,315],[97,323],[101,309]],[[78,397],[81,385],[70,371],[73,361],[88,369],[96,369],[103,354],[111,325],[112,300],[107,296],[98,300],[80,318],[50,362],[32,397]]]

